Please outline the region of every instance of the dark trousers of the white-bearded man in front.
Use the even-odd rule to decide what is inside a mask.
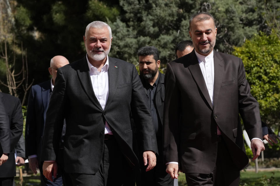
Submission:
[[[135,186],[135,171],[129,167],[113,136],[104,140],[103,160],[96,174],[69,173],[73,186]]]

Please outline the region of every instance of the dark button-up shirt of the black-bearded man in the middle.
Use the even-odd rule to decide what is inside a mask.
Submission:
[[[155,134],[157,135],[158,133],[158,117],[157,117],[157,111],[155,109],[155,93],[156,93],[156,90],[157,90],[157,85],[158,85],[158,81],[159,81],[159,75],[157,77],[157,80],[155,81],[155,83],[152,85],[150,85],[150,83],[148,83],[146,80],[145,80],[145,83],[144,83],[144,88],[147,90],[147,98],[148,98],[148,101],[149,101],[149,108],[150,108],[150,112],[151,112],[151,115],[152,115],[152,118],[153,118],[153,124],[154,124],[154,127],[155,127]]]

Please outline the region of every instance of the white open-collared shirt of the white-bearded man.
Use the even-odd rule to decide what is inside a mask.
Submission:
[[[90,70],[90,79],[92,83],[92,88],[95,94],[95,97],[99,101],[101,107],[105,108],[108,95],[109,95],[109,78],[108,78],[108,69],[109,69],[109,59],[106,56],[106,62],[99,72],[96,67],[90,64],[88,60],[88,54],[86,56],[88,62],[88,68]],[[104,134],[113,134],[107,121],[105,121],[105,133]]]

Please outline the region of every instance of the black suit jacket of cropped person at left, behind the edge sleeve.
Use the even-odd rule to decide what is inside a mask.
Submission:
[[[23,129],[23,117],[20,99],[0,92],[3,104],[8,114],[10,124],[10,153],[8,161],[0,166],[0,177],[15,176],[15,145],[20,140]]]

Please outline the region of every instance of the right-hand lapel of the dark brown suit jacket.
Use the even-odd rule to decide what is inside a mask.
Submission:
[[[214,74],[213,107],[215,108],[224,74],[224,60],[216,51],[214,51]]]

